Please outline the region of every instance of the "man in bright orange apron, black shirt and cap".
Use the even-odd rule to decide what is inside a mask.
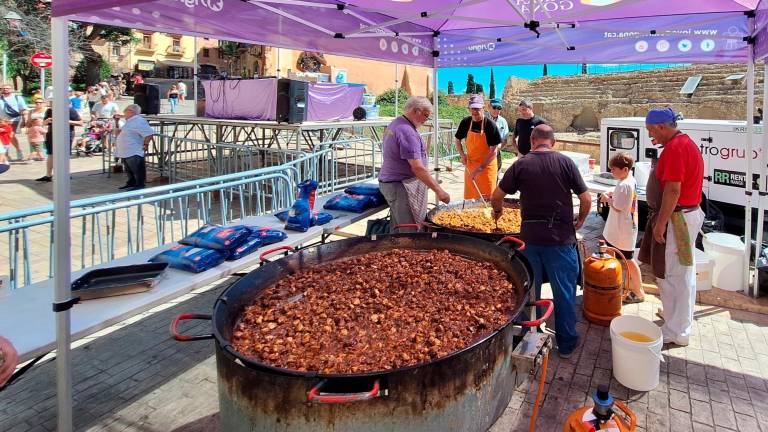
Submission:
[[[459,123],[454,135],[456,149],[465,166],[464,199],[488,199],[496,188],[496,148],[501,143],[501,134],[493,120],[484,115],[484,111],[483,97],[470,96],[470,116]]]

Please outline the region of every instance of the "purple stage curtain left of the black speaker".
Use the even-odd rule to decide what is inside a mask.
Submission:
[[[275,120],[277,78],[203,81],[205,116],[220,119]]]

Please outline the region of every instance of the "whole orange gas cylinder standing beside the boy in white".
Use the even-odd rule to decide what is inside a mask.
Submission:
[[[624,282],[621,262],[608,253],[604,240],[600,250],[584,260],[584,318],[607,326],[621,315]]]

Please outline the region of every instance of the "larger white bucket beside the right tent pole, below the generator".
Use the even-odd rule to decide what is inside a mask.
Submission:
[[[715,262],[712,285],[726,291],[744,289],[744,242],[733,234],[708,233],[702,244]]]

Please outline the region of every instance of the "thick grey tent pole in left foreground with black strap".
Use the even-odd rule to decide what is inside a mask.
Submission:
[[[53,247],[54,305],[71,298],[69,225],[69,21],[51,18],[53,62]],[[72,430],[72,358],[69,309],[56,312],[57,430]]]

